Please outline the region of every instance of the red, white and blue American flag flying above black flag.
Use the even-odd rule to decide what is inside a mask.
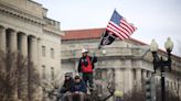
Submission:
[[[136,31],[136,27],[128,23],[126,19],[115,10],[107,24],[106,31],[118,36],[120,40],[126,40]]]

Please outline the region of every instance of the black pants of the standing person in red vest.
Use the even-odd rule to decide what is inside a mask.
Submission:
[[[83,80],[85,83],[89,83],[89,87],[93,88],[93,72],[83,72]]]

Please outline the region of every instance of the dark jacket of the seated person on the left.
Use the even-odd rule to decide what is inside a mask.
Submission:
[[[70,78],[68,80],[64,80],[64,85],[61,89],[61,92],[65,93],[66,91],[71,91],[73,82],[74,82],[73,78]]]

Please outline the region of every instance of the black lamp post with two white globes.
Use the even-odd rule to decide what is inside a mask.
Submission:
[[[170,37],[168,37],[167,42],[164,43],[164,47],[167,49],[168,59],[163,60],[163,58],[158,56],[158,44],[155,40],[152,40],[150,44],[150,50],[153,56],[153,69],[155,72],[157,69],[160,69],[161,72],[161,101],[166,101],[166,86],[164,86],[164,77],[166,77],[166,70],[164,68],[168,67],[169,70],[171,70],[171,52],[173,48],[173,43]]]

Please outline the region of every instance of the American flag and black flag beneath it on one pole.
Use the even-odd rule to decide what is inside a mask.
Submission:
[[[116,37],[119,37],[121,41],[129,38],[135,31],[136,27],[128,23],[126,19],[115,10],[107,24],[106,32],[100,38],[99,48],[102,45],[110,45]]]

